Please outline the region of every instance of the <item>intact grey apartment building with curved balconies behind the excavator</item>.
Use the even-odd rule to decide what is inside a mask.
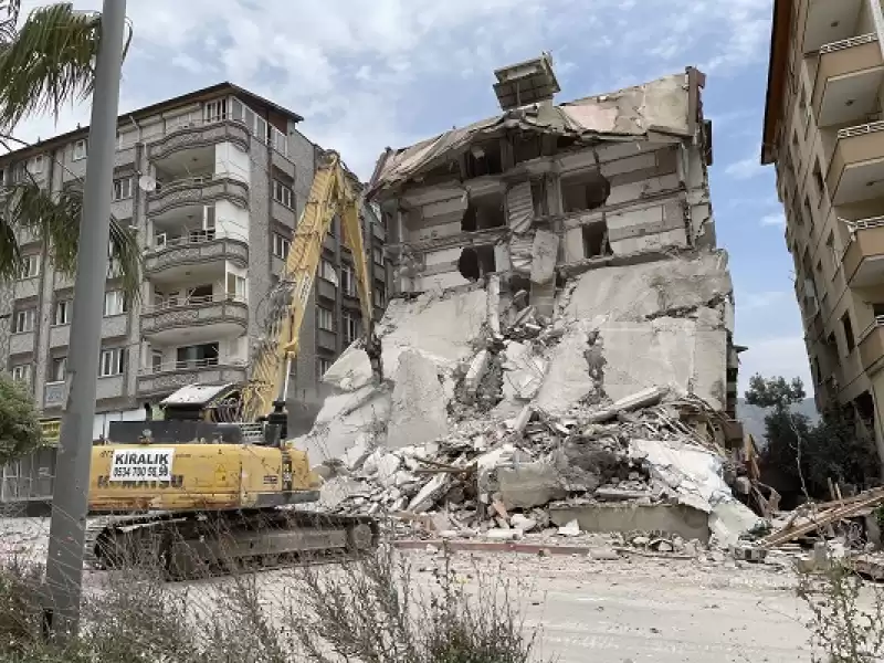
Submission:
[[[183,385],[246,379],[267,295],[283,271],[322,151],[298,130],[302,120],[230,83],[118,118],[112,211],[137,230],[144,283],[140,299],[129,302],[108,273],[96,439],[108,421],[144,418],[146,404]],[[0,172],[9,182],[27,169],[61,191],[82,186],[87,162],[84,127],[0,157]],[[361,217],[380,315],[385,229],[376,207],[364,204]],[[340,240],[336,220],[292,380],[292,409],[299,413],[318,409],[318,377],[361,332],[352,256]],[[52,422],[65,400],[74,283],[53,270],[33,236],[20,241],[25,272],[0,285],[0,361],[29,385]],[[44,496],[53,459],[50,450],[6,467],[0,501]]]

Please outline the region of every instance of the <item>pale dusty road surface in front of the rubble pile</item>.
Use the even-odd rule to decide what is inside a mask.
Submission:
[[[561,663],[810,661],[790,577],[769,567],[481,559],[483,568],[501,565],[506,577],[527,583],[526,625],[541,630],[540,653]],[[461,570],[470,566],[459,561]]]

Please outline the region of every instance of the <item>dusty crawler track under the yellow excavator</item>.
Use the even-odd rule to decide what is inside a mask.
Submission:
[[[140,567],[167,580],[347,559],[377,548],[375,519],[265,508],[107,517],[86,536],[87,565]]]

